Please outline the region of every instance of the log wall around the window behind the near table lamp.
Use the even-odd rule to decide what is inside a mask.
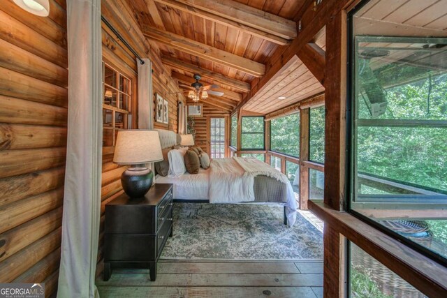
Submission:
[[[169,102],[169,124],[154,124],[155,128],[168,129],[177,132],[177,84],[170,77],[170,73],[161,63],[159,49],[147,43],[133,18],[131,9],[126,1],[105,0],[101,1],[101,13],[112,24],[112,26],[124,37],[133,49],[142,58],[152,61],[152,83],[154,93],[160,94]],[[136,57],[132,52],[117,39],[115,34],[103,23],[102,24],[103,59],[120,73],[132,80],[132,100],[138,100],[138,76]],[[137,128],[138,105],[133,105],[133,128]],[[155,115],[155,96],[154,96]],[[120,177],[125,167],[112,163],[114,147],[103,147],[103,174],[101,179],[101,227],[99,234],[98,266],[96,274],[103,271],[103,231],[104,231],[104,209],[105,204],[117,198],[123,193]]]

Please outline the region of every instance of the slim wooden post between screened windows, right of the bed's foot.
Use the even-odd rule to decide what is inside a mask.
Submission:
[[[309,161],[310,109],[300,110],[300,162]],[[300,163],[300,209],[307,209],[309,200],[309,168]]]

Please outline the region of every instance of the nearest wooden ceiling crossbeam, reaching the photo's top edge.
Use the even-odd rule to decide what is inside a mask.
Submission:
[[[159,3],[163,3],[170,7],[176,8],[178,10],[182,10],[186,13],[191,13],[191,15],[203,17],[205,20],[217,22],[219,24],[223,24],[228,27],[238,29],[245,33],[249,33],[253,36],[263,38],[263,39],[268,40],[272,43],[276,43],[277,45],[287,45],[289,43],[289,40],[291,40],[293,38],[293,37],[283,38],[283,37],[281,37],[281,33],[277,33],[277,34],[269,33],[268,31],[263,31],[262,29],[257,29],[250,25],[244,24],[244,22],[242,22],[241,20],[231,20],[230,18],[228,18],[226,16],[220,16],[220,15],[214,14],[212,12],[200,9],[200,6],[197,6],[197,5],[193,6],[194,2],[192,2],[192,1],[177,1],[177,0],[155,0],[155,1],[159,2]],[[286,20],[286,19],[284,19],[284,22],[290,23],[290,21]],[[296,28],[295,25],[294,25],[294,27]],[[277,28],[275,28],[275,29],[277,29]],[[296,36],[296,29],[295,29],[295,36]]]

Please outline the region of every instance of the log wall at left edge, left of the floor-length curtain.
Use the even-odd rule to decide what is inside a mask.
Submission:
[[[57,288],[67,136],[66,2],[0,1],[0,283]]]

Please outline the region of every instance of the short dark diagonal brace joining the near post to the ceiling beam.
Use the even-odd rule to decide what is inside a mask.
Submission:
[[[298,51],[298,58],[309,68],[316,80],[324,84],[325,52],[316,43],[307,43]]]

